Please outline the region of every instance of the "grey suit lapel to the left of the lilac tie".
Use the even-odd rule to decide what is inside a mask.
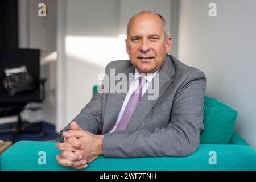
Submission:
[[[129,68],[122,70],[120,72],[115,73],[124,73],[127,78],[127,90],[131,84],[132,80],[129,80],[129,73],[134,74],[135,68],[131,65]],[[115,80],[115,78],[112,78]],[[112,80],[113,81],[113,80]],[[130,81],[130,82],[128,82]],[[115,85],[119,82],[119,80],[113,81]],[[102,133],[108,133],[115,125],[117,120],[118,114],[121,110],[123,105],[123,101],[125,100],[126,93],[109,93],[108,100],[106,102],[106,109],[105,109],[105,117],[104,117],[104,125],[102,129]]]

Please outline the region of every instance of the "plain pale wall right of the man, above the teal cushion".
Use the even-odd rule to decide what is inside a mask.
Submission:
[[[217,5],[217,17],[208,5]],[[178,58],[204,71],[206,94],[238,111],[236,131],[256,148],[256,1],[180,1]]]

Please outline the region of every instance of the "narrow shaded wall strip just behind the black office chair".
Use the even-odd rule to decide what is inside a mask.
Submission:
[[[22,0],[20,0],[22,1]],[[24,0],[23,0],[24,1]],[[41,77],[47,78],[46,98],[42,110],[25,111],[24,115],[30,121],[40,119],[52,124],[56,123],[56,34],[57,34],[57,1],[44,1],[47,5],[46,17],[38,16],[40,0],[29,0],[29,48],[41,50]],[[21,35],[22,36],[22,35]]]

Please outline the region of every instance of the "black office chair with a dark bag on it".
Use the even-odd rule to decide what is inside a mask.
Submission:
[[[26,65],[27,71],[34,77],[35,90],[9,96],[2,85],[3,78],[5,77],[4,70],[23,65]],[[44,137],[45,132],[40,123],[31,123],[23,126],[20,115],[24,109],[40,109],[40,107],[26,108],[28,103],[43,102],[44,100],[44,82],[46,79],[40,79],[40,51],[38,49],[0,50],[0,81],[0,117],[18,115],[18,125],[9,125],[6,129],[0,129],[0,133],[11,132],[9,140],[13,140],[16,134],[22,132],[38,133],[39,137]]]

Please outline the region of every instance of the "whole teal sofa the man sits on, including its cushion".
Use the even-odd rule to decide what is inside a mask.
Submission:
[[[186,157],[100,158],[86,171],[256,170],[256,151],[234,132],[237,111],[205,97],[204,126],[200,146]],[[8,170],[74,170],[60,166],[56,142],[15,143],[0,156],[0,168]]]

